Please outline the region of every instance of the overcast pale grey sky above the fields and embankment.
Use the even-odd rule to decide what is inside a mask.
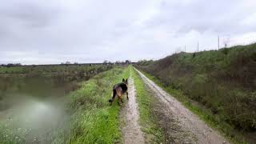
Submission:
[[[158,59],[256,42],[255,0],[2,0],[0,63]]]

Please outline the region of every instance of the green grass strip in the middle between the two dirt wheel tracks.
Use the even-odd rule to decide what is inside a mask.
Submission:
[[[154,97],[147,91],[144,82],[132,66],[129,67],[130,75],[134,78],[134,86],[136,89],[136,98],[140,112],[140,125],[142,131],[146,134],[146,141],[150,143],[161,143],[163,134],[161,128],[157,125],[156,118],[152,113]]]

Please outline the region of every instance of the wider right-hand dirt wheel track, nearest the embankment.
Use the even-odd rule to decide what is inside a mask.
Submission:
[[[225,138],[218,134],[217,131],[211,129],[205,122],[199,119],[198,116],[190,112],[190,110],[187,110],[185,106],[182,106],[178,100],[170,96],[170,94],[167,94],[149,78],[146,78],[146,76],[140,71],[138,71],[138,74],[141,76],[143,82],[145,82],[146,85],[154,92],[154,96],[164,104],[167,108],[166,111],[171,112],[170,117],[174,117],[178,120],[179,126],[182,130],[186,130],[190,134],[194,135],[193,137],[196,138],[196,143],[228,143]]]

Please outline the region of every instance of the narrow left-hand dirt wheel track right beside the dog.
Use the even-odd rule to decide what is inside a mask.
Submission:
[[[125,123],[122,126],[123,140],[126,144],[145,143],[141,127],[138,124],[139,112],[135,97],[134,79],[129,78],[128,82],[129,100],[126,101],[121,111],[121,118],[124,121],[122,123]]]

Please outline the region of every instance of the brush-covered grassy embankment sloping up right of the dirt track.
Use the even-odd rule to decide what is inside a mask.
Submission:
[[[173,54],[137,67],[231,141],[255,142],[246,135],[256,129],[256,44]]]

